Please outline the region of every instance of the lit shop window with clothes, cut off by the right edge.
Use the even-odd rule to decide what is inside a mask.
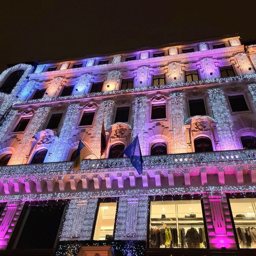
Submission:
[[[256,249],[256,198],[230,199],[240,248]]]

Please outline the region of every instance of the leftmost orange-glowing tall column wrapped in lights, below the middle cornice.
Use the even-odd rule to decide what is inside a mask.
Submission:
[[[27,152],[30,150],[31,146],[31,138],[38,132],[40,126],[45,120],[46,115],[48,114],[50,107],[41,107],[36,110],[36,113],[32,117],[29,126],[26,128],[24,132],[24,137],[22,142],[19,144],[18,148],[16,149],[14,156],[12,157],[11,165],[13,164],[22,164],[26,161],[25,157]]]

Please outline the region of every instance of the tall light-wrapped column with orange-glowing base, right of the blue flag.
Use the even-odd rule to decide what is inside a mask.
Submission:
[[[184,93],[170,93],[170,113],[172,120],[173,154],[186,153],[186,135],[184,130]]]

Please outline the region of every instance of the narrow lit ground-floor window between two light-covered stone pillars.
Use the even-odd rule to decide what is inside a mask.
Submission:
[[[100,203],[93,240],[113,240],[117,202]]]

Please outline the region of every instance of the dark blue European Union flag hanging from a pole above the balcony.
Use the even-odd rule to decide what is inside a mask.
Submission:
[[[131,160],[132,166],[137,170],[138,174],[142,174],[142,154],[140,151],[140,142],[138,135],[124,150],[124,154]]]

